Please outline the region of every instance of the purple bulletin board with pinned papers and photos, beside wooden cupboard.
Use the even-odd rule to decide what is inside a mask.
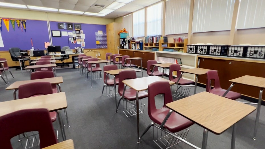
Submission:
[[[59,28],[59,25],[62,26],[62,28]],[[65,23],[66,26],[63,27],[63,23]],[[68,25],[72,25],[73,30],[69,30]],[[69,38],[70,37],[68,32],[75,31],[75,24],[80,25],[81,30],[83,30],[83,34],[85,34],[85,46],[83,48],[86,49],[93,49],[96,48],[96,35],[95,32],[98,32],[98,30],[102,30],[103,33],[106,33],[106,25],[95,25],[95,24],[84,24],[84,23],[69,23],[69,22],[54,22],[50,21],[50,29],[52,30],[59,30],[61,31],[61,37],[52,37],[52,44],[54,46],[69,46],[71,49],[75,47],[81,46],[81,44],[72,43]],[[66,33],[67,32],[67,33]],[[67,35],[67,36],[63,36]]]

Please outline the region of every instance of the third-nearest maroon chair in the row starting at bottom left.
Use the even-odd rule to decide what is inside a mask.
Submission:
[[[32,72],[31,73],[31,79],[32,80],[44,79],[44,78],[50,78],[50,77],[54,77],[53,71],[43,70],[43,71],[38,71],[38,72]],[[52,92],[53,93],[57,93],[58,92],[56,84],[52,84]]]

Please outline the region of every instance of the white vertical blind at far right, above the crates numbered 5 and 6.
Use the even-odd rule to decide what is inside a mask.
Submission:
[[[237,29],[265,27],[264,8],[264,0],[241,0],[237,15]]]

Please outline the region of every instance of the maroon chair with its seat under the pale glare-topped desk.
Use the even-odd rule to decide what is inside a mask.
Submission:
[[[135,79],[135,78],[136,78],[136,72],[134,70],[122,70],[119,72],[118,91],[119,91],[121,98],[118,102],[116,112],[118,110],[121,100],[124,100],[124,101],[136,100],[136,91],[132,88],[126,89],[126,87],[124,87],[124,83],[122,82],[123,80],[126,80],[126,79]],[[139,91],[138,99],[140,100],[145,97],[148,97],[148,93],[146,93],[145,91]]]

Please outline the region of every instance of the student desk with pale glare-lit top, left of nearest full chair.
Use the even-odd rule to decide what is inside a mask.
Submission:
[[[170,85],[174,84],[175,82],[169,81],[167,79],[158,77],[158,76],[149,76],[149,77],[140,77],[136,79],[130,79],[130,80],[123,80],[122,83],[125,85],[131,87],[136,91],[136,115],[137,115],[137,143],[140,143],[139,141],[139,99],[138,99],[138,92],[144,91],[148,89],[148,85],[150,83],[153,83],[155,81],[168,81]],[[126,87],[124,87],[124,90]]]

